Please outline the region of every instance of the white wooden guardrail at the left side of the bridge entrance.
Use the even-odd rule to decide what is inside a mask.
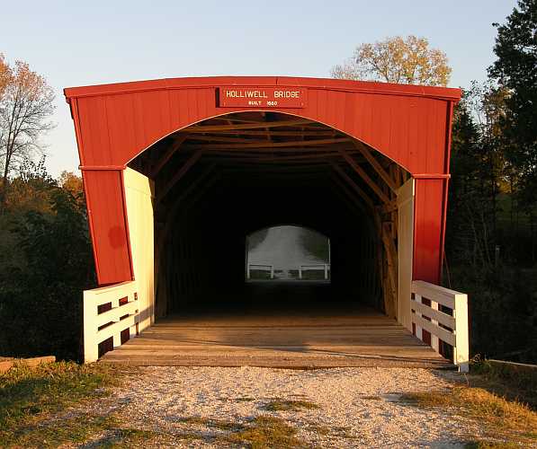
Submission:
[[[103,312],[99,313],[99,308]],[[121,346],[121,332],[138,335],[139,301],[136,281],[121,282],[84,292],[84,361],[99,358],[99,344],[112,338]]]

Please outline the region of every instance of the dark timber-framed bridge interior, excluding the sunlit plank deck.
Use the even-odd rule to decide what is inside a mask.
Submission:
[[[309,300],[394,315],[394,191],[408,174],[367,145],[291,115],[240,112],[166,136],[129,166],[156,185],[157,316],[259,304],[263,287],[245,283],[246,235],[281,224],[330,239],[331,285]],[[293,290],[271,303],[300,302]]]

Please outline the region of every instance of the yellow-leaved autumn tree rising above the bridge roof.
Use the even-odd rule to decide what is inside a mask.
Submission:
[[[340,79],[443,86],[451,73],[445,53],[416,36],[359,45],[354,57],[332,68],[332,76]]]

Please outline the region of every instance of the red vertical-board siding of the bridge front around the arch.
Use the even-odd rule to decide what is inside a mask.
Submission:
[[[271,110],[315,120],[345,132],[412,174],[447,173],[449,139],[446,136],[452,102],[461,96],[458,89],[233,76],[69,88],[65,93],[75,119],[81,164],[86,170],[86,198],[100,284],[128,280],[131,276],[121,169],[148,146],[178,129],[241,110],[216,106],[215,89],[232,85],[305,88],[308,98],[305,108]],[[438,281],[445,182],[416,180],[414,277],[417,279]]]

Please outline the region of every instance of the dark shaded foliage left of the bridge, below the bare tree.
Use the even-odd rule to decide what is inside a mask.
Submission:
[[[13,180],[0,226],[0,249],[10,254],[0,259],[0,355],[78,358],[82,291],[94,285],[81,195],[42,163]]]

